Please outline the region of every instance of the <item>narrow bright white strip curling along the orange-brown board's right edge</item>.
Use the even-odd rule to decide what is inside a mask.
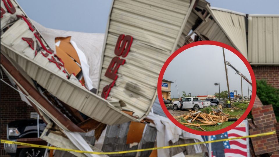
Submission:
[[[72,44],[72,46],[75,48],[76,53],[78,54],[78,58],[81,61],[81,70],[82,70],[82,74],[83,74],[83,78],[85,81],[85,85],[86,87],[91,90],[93,88],[92,86],[92,81],[89,77],[89,65],[87,64],[87,60],[86,60],[86,56],[83,53],[83,51],[81,51],[78,46],[76,45],[76,42],[74,42],[73,40],[70,41],[70,43]]]

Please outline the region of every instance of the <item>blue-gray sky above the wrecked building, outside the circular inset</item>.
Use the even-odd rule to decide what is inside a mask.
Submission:
[[[25,13],[47,28],[105,33],[112,0],[17,0]],[[279,14],[278,0],[208,0],[211,6],[246,14]]]

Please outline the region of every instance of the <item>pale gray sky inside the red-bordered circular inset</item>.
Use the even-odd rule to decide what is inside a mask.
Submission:
[[[251,80],[248,69],[237,55],[225,49],[225,57],[226,61]],[[174,82],[171,83],[171,98],[178,97],[175,81],[180,97],[182,91],[191,93],[192,96],[206,95],[206,91],[208,94],[219,92],[218,86],[214,83],[220,83],[220,92],[228,90],[222,47],[200,45],[181,52],[167,67],[164,79]],[[237,90],[237,94],[241,95],[240,76],[235,74],[231,67],[228,67],[228,80],[230,91]],[[242,80],[244,96],[248,96],[248,85]],[[252,90],[250,85],[249,89]]]

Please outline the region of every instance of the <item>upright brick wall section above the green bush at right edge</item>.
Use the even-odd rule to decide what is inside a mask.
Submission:
[[[279,88],[279,66],[252,66],[257,80],[265,79],[268,84]]]

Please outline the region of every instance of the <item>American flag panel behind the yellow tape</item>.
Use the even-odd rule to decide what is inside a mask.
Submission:
[[[240,123],[234,129],[228,132],[212,135],[210,140],[219,140],[248,135],[247,121]],[[211,144],[212,157],[247,157],[249,156],[249,141],[247,138],[228,140],[223,142],[214,142]]]

